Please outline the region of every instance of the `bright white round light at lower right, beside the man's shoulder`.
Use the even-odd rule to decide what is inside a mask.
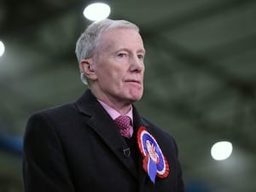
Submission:
[[[233,146],[230,142],[218,142],[212,145],[211,154],[214,160],[226,160],[232,154]]]

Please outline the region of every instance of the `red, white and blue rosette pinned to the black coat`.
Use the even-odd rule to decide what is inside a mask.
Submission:
[[[143,154],[143,169],[150,180],[155,183],[155,177],[164,178],[169,174],[169,165],[165,155],[154,137],[141,126],[137,131],[137,143]]]

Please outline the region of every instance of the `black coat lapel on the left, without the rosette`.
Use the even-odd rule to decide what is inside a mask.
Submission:
[[[90,90],[86,90],[76,103],[79,111],[90,117],[87,124],[91,129],[96,131],[120,163],[137,179],[137,169],[134,161],[131,157],[126,157],[123,152],[123,149],[128,148],[124,137],[121,137],[117,125],[102,108],[101,104],[96,101],[95,96],[91,94]]]

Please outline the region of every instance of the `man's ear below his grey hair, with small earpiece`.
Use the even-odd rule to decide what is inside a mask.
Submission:
[[[96,73],[92,59],[84,59],[80,62],[80,69],[82,73],[92,81],[96,80]]]

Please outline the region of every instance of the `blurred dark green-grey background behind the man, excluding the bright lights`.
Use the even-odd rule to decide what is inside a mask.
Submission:
[[[0,192],[20,192],[28,117],[75,101],[75,43],[91,1],[1,0]],[[109,18],[141,28],[145,91],[137,108],[176,138],[187,192],[256,191],[256,1],[111,0]],[[3,44],[0,44],[0,50]],[[233,145],[214,160],[214,143]]]

